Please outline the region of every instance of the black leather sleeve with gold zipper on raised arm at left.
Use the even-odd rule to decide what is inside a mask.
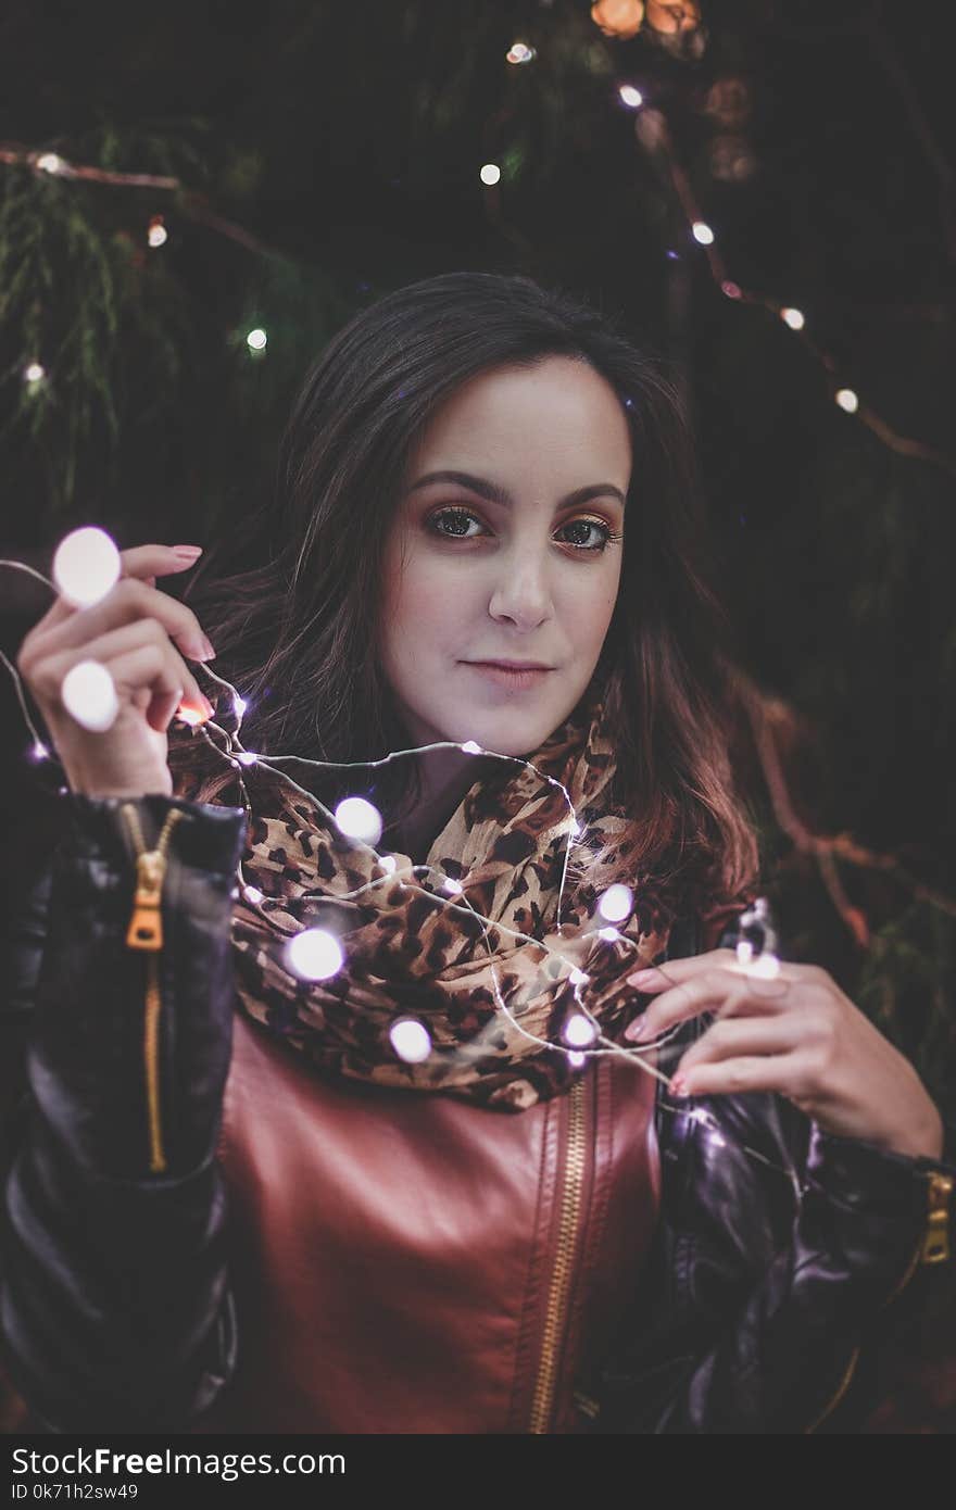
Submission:
[[[127,942],[136,856],[165,827],[148,951]],[[216,1140],[243,834],[236,808],[68,793],[14,941],[3,1018],[24,1087],[5,1129],[0,1330],[51,1431],[184,1428],[234,1368]]]

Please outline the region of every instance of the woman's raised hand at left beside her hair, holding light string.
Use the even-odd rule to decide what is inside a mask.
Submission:
[[[20,646],[17,667],[72,791],[88,797],[172,796],[169,722],[180,705],[190,711],[190,722],[204,722],[214,711],[183,655],[211,660],[214,651],[195,613],[157,592],[156,578],[193,566],[198,553],[137,545],[119,559],[121,578],[98,602],[76,609],[56,598]],[[101,734],[77,723],[60,699],[63,676],[85,660],[106,666],[116,687],[119,713]]]

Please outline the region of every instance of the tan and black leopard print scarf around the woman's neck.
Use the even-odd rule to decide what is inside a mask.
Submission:
[[[387,870],[317,802],[285,788],[281,811],[254,817],[246,835],[243,873],[261,901],[243,892],[233,914],[242,1009],[319,1069],[355,1080],[506,1111],[566,1090],[580,1074],[580,1055],[575,1065],[563,1046],[566,1019],[583,1007],[616,1042],[636,1004],[625,975],[661,957],[674,918],[619,850],[615,879],[631,886],[631,908],[613,924],[598,909],[587,852],[613,841],[625,818],[606,806],[615,775],[606,701],[594,693],[575,713],[529,766],[470,788],[430,846],[432,870],[414,873],[400,853]],[[568,788],[581,824],[560,917],[572,818],[548,776]],[[335,975],[305,982],[287,966],[285,944],[307,926],[337,936]],[[399,1016],[430,1034],[421,1063],[393,1048]]]

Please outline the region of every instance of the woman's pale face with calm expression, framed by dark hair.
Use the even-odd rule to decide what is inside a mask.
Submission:
[[[563,723],[612,619],[630,474],[621,403],[571,356],[483,373],[435,412],[385,553],[384,667],[415,744],[527,755]],[[548,670],[476,664],[501,660]]]

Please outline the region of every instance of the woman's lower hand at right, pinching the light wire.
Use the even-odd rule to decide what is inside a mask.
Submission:
[[[914,1066],[817,965],[781,962],[766,978],[719,948],[627,978],[654,995],[631,1042],[716,1015],[671,1078],[677,1095],[775,1090],[838,1137],[942,1157],[942,1117]]]

